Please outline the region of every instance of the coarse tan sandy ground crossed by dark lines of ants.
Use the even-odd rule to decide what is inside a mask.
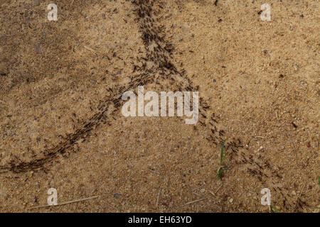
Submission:
[[[50,3],[0,0],[0,211],[319,211],[319,1]],[[139,85],[199,92],[198,123],[125,118]],[[30,210],[51,187],[98,197]]]

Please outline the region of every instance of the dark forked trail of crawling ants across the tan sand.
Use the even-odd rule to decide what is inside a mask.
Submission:
[[[174,63],[171,62],[174,46],[166,40],[166,34],[162,31],[163,26],[160,23],[161,17],[156,18],[157,12],[159,13],[164,9],[164,3],[155,0],[134,0],[132,5],[146,56],[137,58],[139,64],[134,65],[132,72],[134,75],[131,77],[131,81],[125,85],[107,89],[110,92],[110,96],[100,101],[97,113],[83,123],[80,128],[67,135],[54,148],[41,152],[43,157],[31,162],[12,160],[7,165],[0,167],[0,173],[41,170],[45,165],[57,159],[59,155],[67,153],[78,140],[87,138],[101,123],[107,123],[111,126],[112,119],[115,119],[114,116],[119,114],[123,104],[121,99],[123,92],[130,89],[135,89],[144,84],[162,86],[159,81],[164,82],[164,80],[174,82],[178,91],[195,91],[198,89],[186,75],[186,70],[178,70]],[[156,11],[156,9],[158,10]],[[215,115],[211,107],[203,98],[200,98],[199,126],[208,131],[206,139],[215,146],[223,143],[223,137],[225,136],[225,131],[219,121],[220,118]],[[261,184],[267,182],[267,179],[272,179],[272,184],[277,185],[276,182],[281,179],[276,171],[272,171],[272,166],[268,160],[262,160],[261,157],[252,157],[252,155],[248,157],[240,139],[230,139],[226,143],[225,149],[230,151],[230,160],[233,160],[235,164],[249,165],[247,172],[252,177],[256,177]],[[283,206],[289,209],[289,205],[292,204],[289,194],[284,194],[279,187],[273,187],[273,189],[274,192],[282,194]]]

